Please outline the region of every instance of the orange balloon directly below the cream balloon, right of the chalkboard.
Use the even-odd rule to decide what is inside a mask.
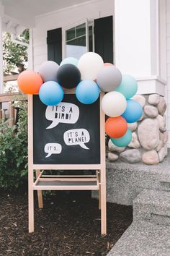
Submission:
[[[128,124],[122,116],[109,117],[105,124],[105,131],[109,137],[119,138],[125,135]]]

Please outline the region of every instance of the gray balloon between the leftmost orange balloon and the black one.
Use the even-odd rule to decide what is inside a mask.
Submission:
[[[57,81],[58,64],[54,61],[45,61],[41,64],[39,74],[44,82]]]

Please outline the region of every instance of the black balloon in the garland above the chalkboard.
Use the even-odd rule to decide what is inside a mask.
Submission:
[[[63,64],[57,72],[57,82],[63,88],[74,88],[81,81],[81,73],[73,64]]]

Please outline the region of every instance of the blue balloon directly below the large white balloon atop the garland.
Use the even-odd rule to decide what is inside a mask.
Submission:
[[[76,87],[76,98],[84,104],[91,104],[99,98],[99,87],[92,80],[83,80]]]

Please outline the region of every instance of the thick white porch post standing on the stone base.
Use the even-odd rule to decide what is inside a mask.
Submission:
[[[138,80],[138,93],[165,95],[165,0],[115,0],[115,64]],[[164,44],[164,46],[163,46]]]

